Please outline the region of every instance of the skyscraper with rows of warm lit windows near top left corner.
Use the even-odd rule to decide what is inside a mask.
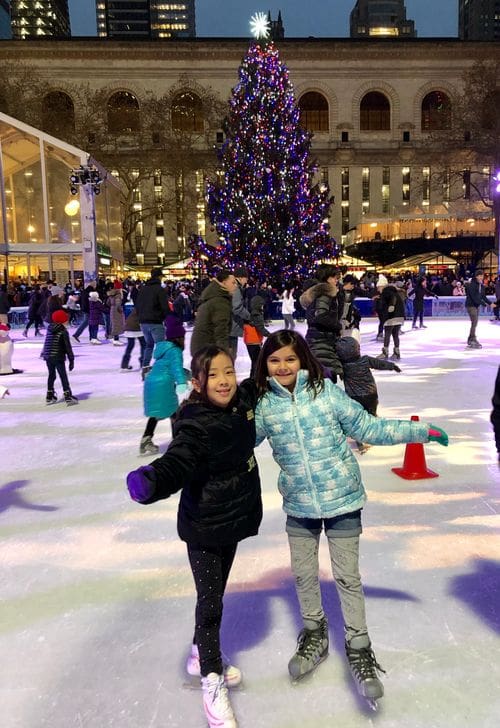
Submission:
[[[11,0],[12,37],[69,38],[68,0]]]

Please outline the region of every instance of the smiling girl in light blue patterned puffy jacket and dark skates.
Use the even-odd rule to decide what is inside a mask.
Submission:
[[[374,445],[436,440],[443,430],[425,422],[368,414],[332,381],[305,340],[292,331],[266,339],[257,363],[257,443],[269,439],[281,468],[278,487],[287,514],[292,572],[304,628],[288,670],[297,680],[328,654],[328,623],[321,603],[318,547],[325,529],[345,627],[345,649],[361,695],[382,697],[382,668],[373,653],[359,574],[361,509],[366,500],[347,437]]]

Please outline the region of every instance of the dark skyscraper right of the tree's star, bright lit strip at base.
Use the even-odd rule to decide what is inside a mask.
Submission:
[[[415,38],[404,0],[357,0],[351,11],[351,38]]]

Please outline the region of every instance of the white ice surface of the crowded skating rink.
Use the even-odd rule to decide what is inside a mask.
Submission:
[[[301,624],[264,444],[264,521],[239,547],[223,622],[224,650],[244,671],[232,694],[240,728],[498,725],[500,472],[489,414],[500,324],[481,318],[481,350],[465,350],[465,318],[426,324],[401,339],[402,374],[375,377],[381,416],[416,414],[449,433],[447,449],[425,446],[439,478],[394,475],[404,445],[356,455],[369,496],[361,568],[385,697],[371,711],[347,671],[326,542],[330,655],[290,684]],[[364,353],[380,352],[375,331],[374,319],[362,322]],[[183,687],[194,589],[177,496],[139,506],[125,488],[126,473],[151,460],[138,456],[140,376],[118,371],[123,348],[83,343],[84,333],[70,375],[80,404],[46,407],[42,340],[12,336],[24,373],[0,381],[11,390],[0,400],[1,728],[203,728],[201,693]],[[243,349],[240,378],[249,371]],[[160,423],[162,451],[169,437]]]

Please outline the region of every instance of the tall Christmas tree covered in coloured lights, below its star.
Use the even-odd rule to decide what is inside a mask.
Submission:
[[[307,275],[337,254],[329,235],[333,198],[315,183],[311,134],[299,125],[288,69],[272,43],[253,43],[229,101],[220,173],[207,186],[220,245],[209,265],[245,265],[258,278]]]

